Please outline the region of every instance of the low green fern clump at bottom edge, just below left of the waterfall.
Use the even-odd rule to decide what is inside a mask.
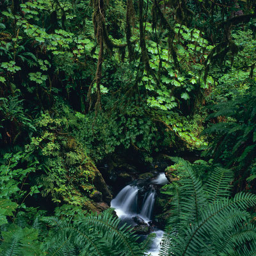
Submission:
[[[44,218],[44,221],[51,227],[46,243],[48,255],[142,256],[149,246],[149,243],[143,246],[136,243],[138,237],[129,227],[118,228],[120,221],[108,211],[79,216],[74,221],[54,217]]]

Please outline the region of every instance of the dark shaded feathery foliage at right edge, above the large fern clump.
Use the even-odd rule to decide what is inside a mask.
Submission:
[[[240,188],[240,191],[252,186],[252,191],[255,192],[255,176],[250,177],[253,175],[253,164],[256,163],[255,92],[256,84],[251,81],[250,88],[243,95],[211,106],[214,113],[207,119],[221,117],[222,122],[209,125],[203,132],[208,138],[212,138],[206,156],[227,168],[232,167],[236,188]],[[249,185],[244,182],[246,179],[250,181]]]

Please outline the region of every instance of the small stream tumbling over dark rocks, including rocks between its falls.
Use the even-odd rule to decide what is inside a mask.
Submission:
[[[134,180],[132,184],[125,186],[116,197],[111,201],[111,207],[115,208],[121,223],[127,223],[132,227],[144,225],[154,232],[156,237],[152,241],[152,246],[148,254],[157,256],[160,250],[160,242],[163,237],[163,230],[152,225],[154,220],[154,202],[156,200],[156,186],[163,186],[168,180],[164,173],[159,173],[156,179],[149,182],[143,180]],[[148,227],[147,227],[148,226]],[[145,235],[141,235],[145,239]]]

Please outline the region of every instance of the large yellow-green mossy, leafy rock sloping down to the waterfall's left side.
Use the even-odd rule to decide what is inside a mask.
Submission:
[[[60,118],[42,114],[36,126],[38,132],[28,150],[44,156],[49,173],[40,177],[43,196],[51,196],[53,202],[81,205],[88,211],[98,211],[95,203],[110,205],[112,195],[101,173],[86,155],[86,148],[73,136],[63,131]],[[58,132],[57,132],[58,131]],[[97,193],[92,193],[93,191]]]

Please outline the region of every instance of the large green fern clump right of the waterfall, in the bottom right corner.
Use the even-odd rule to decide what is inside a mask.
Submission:
[[[231,255],[256,239],[256,227],[248,222],[251,217],[246,211],[256,204],[256,195],[241,192],[230,198],[230,170],[213,167],[209,179],[202,182],[196,177],[197,164],[173,161],[181,178],[170,185],[174,188],[172,216],[160,256]]]

